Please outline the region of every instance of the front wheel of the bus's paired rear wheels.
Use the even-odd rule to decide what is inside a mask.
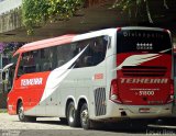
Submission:
[[[66,116],[67,116],[67,122],[68,122],[69,126],[72,126],[72,127],[79,126],[79,124],[80,124],[79,114],[75,109],[74,102],[69,102],[69,104],[67,106]]]

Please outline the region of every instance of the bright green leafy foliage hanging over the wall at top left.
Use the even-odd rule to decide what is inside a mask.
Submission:
[[[46,21],[67,20],[80,9],[85,0],[23,0],[22,20],[28,34]]]

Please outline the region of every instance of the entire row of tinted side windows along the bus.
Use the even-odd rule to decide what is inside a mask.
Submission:
[[[18,75],[51,71],[72,60],[82,49],[85,52],[75,61],[74,68],[96,66],[105,59],[107,44],[108,37],[99,36],[24,53],[22,54]]]

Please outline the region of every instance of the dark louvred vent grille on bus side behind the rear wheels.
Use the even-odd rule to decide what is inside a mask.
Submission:
[[[96,105],[96,116],[106,115],[106,89],[98,88],[95,90],[95,105]]]

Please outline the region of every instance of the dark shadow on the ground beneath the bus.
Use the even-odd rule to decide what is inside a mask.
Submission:
[[[58,121],[42,120],[42,121],[36,121],[34,123],[68,126],[66,122],[61,122],[59,120]],[[76,127],[76,128],[81,128],[81,127]],[[130,123],[100,123],[97,126],[94,126],[90,131],[125,133],[125,134],[145,134],[145,135],[174,135],[174,134],[176,135],[176,123],[175,122],[152,123],[148,124],[147,126],[143,126],[142,124],[130,124]]]

